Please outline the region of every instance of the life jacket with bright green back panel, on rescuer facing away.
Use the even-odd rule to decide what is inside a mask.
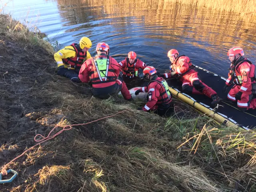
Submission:
[[[92,70],[89,72],[92,84],[114,82],[117,79],[115,70],[111,67],[111,57],[92,57]]]

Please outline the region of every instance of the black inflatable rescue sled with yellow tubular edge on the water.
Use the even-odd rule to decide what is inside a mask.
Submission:
[[[182,83],[175,78],[166,80],[173,96],[176,96],[191,106],[194,106],[194,108],[212,117],[220,124],[224,124],[226,126],[240,126],[244,129],[256,128],[256,110],[242,112],[238,109],[237,102],[231,102],[227,99],[228,92],[222,93],[222,88],[225,85],[226,78],[198,66],[195,66],[194,69],[198,72],[202,82],[215,90],[218,96],[223,99],[223,101],[219,103],[218,108],[214,110],[210,106],[212,100],[205,95],[183,93]],[[231,88],[232,86],[229,87],[228,91]]]

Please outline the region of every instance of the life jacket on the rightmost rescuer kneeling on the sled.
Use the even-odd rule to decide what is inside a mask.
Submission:
[[[241,74],[240,72],[238,72],[238,67],[244,62],[248,62],[250,64],[250,71],[248,74]],[[254,74],[255,65],[252,64],[252,62],[247,58],[244,58],[237,65],[234,65],[234,63],[232,63],[230,65],[229,70],[230,70],[229,75],[232,76],[232,80],[237,85],[241,85],[243,82],[247,82],[247,78],[250,78],[252,82],[256,80],[255,74]]]

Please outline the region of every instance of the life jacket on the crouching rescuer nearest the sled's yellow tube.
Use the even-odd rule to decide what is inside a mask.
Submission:
[[[162,81],[156,80],[156,79],[152,79],[150,83],[152,82],[157,82],[158,84],[160,84],[161,88],[162,88],[162,92],[160,92],[160,99],[158,98],[157,100],[157,104],[168,104],[172,101],[172,93],[169,90],[169,86],[167,84],[167,82],[163,79]],[[149,85],[148,84],[148,85]]]

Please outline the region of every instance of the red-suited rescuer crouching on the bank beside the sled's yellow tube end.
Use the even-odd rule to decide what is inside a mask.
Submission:
[[[138,108],[143,111],[154,111],[154,113],[164,116],[170,114],[172,93],[169,90],[169,86],[164,78],[156,75],[156,69],[152,66],[148,66],[143,70],[143,75],[149,81],[147,87],[142,87],[136,90],[135,95],[140,92],[148,92],[148,102],[144,107]]]

